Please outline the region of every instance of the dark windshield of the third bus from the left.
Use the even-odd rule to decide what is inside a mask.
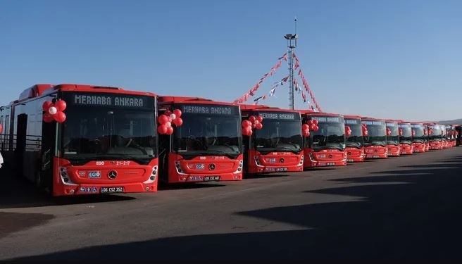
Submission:
[[[299,153],[302,146],[299,113],[255,113],[263,117],[263,128],[254,130],[254,148],[265,154],[273,151]]]

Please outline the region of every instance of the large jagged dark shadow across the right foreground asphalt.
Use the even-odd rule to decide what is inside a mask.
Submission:
[[[349,184],[345,187],[301,192],[341,197],[338,202],[320,196],[317,203],[235,212],[265,223],[289,223],[296,230],[244,229],[242,233],[89,246],[19,259],[462,260],[462,164],[416,168],[351,175],[330,180]],[[351,182],[360,185],[351,186]]]

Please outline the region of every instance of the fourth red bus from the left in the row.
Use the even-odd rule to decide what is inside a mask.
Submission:
[[[313,113],[301,111],[302,122],[316,122],[318,130],[311,130],[304,137],[304,167],[346,165],[345,121],[335,113]]]

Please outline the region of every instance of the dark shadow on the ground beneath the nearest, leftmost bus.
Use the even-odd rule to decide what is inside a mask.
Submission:
[[[4,168],[0,170],[0,187],[0,209],[104,203],[135,199],[116,194],[53,197],[45,191],[37,189],[34,184],[24,178],[15,177],[13,173]]]

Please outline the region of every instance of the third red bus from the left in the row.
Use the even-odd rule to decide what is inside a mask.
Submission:
[[[240,105],[242,120],[263,118],[263,128],[244,137],[244,171],[297,172],[304,169],[299,111],[269,106]]]

